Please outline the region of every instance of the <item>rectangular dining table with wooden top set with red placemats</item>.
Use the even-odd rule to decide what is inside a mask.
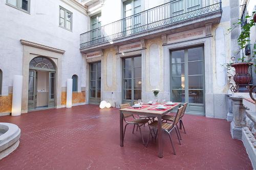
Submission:
[[[158,105],[142,104],[140,108],[126,107],[120,109],[120,146],[123,147],[123,114],[134,114],[143,115],[148,117],[156,117],[158,120],[158,157],[163,158],[163,130],[162,130],[162,116],[169,113],[170,111],[180,107],[181,103],[174,103],[174,105],[166,106],[164,103],[161,104],[166,109],[157,109]]]

